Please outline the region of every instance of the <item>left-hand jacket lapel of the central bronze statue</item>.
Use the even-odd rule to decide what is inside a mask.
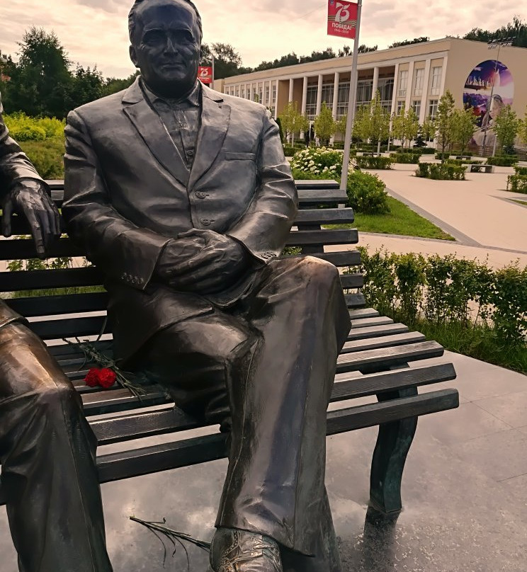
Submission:
[[[166,171],[169,171],[171,176],[186,187],[188,168],[159,115],[145,100],[139,79],[126,91],[123,97],[123,105],[125,114],[135,125],[137,132],[157,161],[164,166]]]

